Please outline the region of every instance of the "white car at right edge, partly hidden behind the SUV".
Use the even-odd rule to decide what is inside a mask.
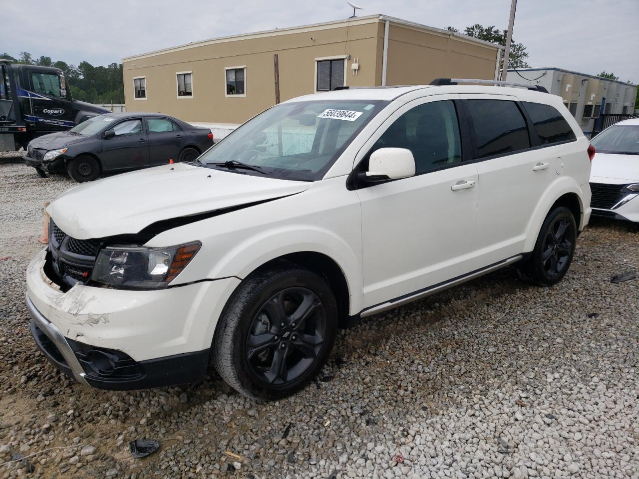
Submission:
[[[639,222],[639,119],[615,123],[591,143],[592,214]]]

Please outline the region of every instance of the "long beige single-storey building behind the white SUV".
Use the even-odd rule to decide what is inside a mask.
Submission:
[[[437,77],[495,79],[501,48],[371,15],[124,58],[125,101],[129,112],[242,123],[276,103],[278,83],[284,101],[340,86],[427,84]]]

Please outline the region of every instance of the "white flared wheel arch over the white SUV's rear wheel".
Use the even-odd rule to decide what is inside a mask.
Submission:
[[[582,186],[584,186],[584,188],[582,188]],[[581,208],[581,218],[575,218],[575,220],[577,221],[579,231],[585,227],[587,218],[590,217],[590,188],[585,188],[586,186],[588,186],[588,183],[580,186],[569,176],[560,176],[548,185],[544,194],[541,195],[542,201],[537,203],[537,207],[528,221],[524,252],[531,252],[534,249],[537,236],[539,236],[539,231],[541,231],[541,225],[546,219],[546,216],[548,216],[548,213],[550,213],[550,208],[565,194],[572,193],[577,196]],[[587,206],[584,206],[584,204]]]

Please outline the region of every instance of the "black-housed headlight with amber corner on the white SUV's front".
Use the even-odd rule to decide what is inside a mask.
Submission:
[[[91,279],[110,286],[167,287],[201,247],[199,241],[168,248],[114,246],[100,250]]]

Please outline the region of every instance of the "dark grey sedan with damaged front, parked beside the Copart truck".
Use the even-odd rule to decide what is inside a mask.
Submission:
[[[26,163],[43,178],[61,171],[75,181],[93,181],[105,172],[190,162],[212,145],[211,130],[172,116],[107,113],[32,140]]]

